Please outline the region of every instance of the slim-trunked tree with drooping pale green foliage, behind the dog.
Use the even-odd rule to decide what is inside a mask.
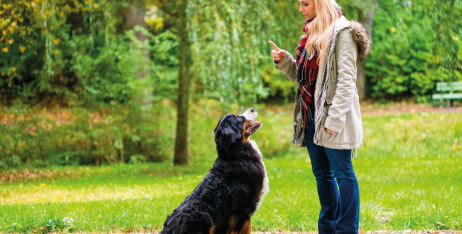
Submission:
[[[156,0],[154,4],[179,19],[175,25],[180,68],[174,164],[185,165],[192,87],[203,97],[222,101],[223,109],[231,102],[250,104],[265,95],[257,67],[275,24],[270,4],[264,0]]]

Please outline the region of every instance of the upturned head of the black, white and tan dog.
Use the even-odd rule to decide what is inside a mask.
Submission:
[[[247,142],[261,127],[261,123],[256,120],[257,112],[253,108],[242,115],[225,115],[215,128],[215,143],[220,148],[230,149],[233,145]]]

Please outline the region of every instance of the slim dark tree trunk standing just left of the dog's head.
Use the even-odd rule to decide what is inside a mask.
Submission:
[[[177,125],[175,138],[175,155],[173,159],[174,165],[188,164],[188,102],[189,102],[189,86],[190,74],[189,68],[191,64],[191,44],[188,38],[188,17],[186,8],[188,0],[182,0],[179,9],[180,24],[180,71],[178,75],[178,104],[177,104]]]

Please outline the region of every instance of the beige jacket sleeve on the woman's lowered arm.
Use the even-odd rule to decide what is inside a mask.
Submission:
[[[344,29],[339,33],[336,43],[337,88],[324,127],[334,132],[340,132],[345,125],[346,113],[350,111],[353,97],[357,92],[356,60],[358,49],[349,29]]]

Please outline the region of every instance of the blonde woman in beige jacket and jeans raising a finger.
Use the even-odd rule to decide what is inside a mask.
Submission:
[[[306,18],[297,59],[273,42],[275,67],[297,82],[292,143],[306,146],[316,177],[324,233],[358,233],[359,187],[351,159],[363,129],[356,64],[370,50],[364,27],[334,0],[299,0]]]

